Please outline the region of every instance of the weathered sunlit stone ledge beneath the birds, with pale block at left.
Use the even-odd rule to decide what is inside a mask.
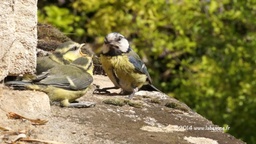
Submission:
[[[99,75],[94,75],[93,83],[100,88],[113,85],[107,76]],[[129,104],[121,107],[103,103],[106,99],[122,100],[121,90],[110,90],[112,94],[103,95],[93,94],[95,88],[93,85],[84,97],[78,99],[94,101],[95,107],[51,106],[51,111],[49,99],[41,92],[0,90],[1,109],[8,105],[9,111],[29,118],[49,120],[45,125],[32,125],[27,120],[8,119],[0,112],[0,126],[32,130],[34,133],[30,134],[30,138],[65,144],[245,144],[222,130],[195,130],[196,127],[219,126],[165,94],[139,91],[132,102],[141,103],[142,108]],[[152,99],[160,103],[153,103]],[[179,109],[166,107],[168,102]],[[176,125],[191,126],[193,129],[177,129]],[[10,136],[9,139],[15,137]]]

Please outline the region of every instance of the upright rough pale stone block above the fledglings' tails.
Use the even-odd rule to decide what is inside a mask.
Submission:
[[[37,0],[1,0],[0,12],[0,80],[34,73]]]

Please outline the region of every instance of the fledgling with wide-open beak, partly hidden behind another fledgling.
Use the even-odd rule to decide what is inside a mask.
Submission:
[[[57,65],[69,65],[81,56],[88,56],[81,52],[81,47],[85,44],[78,44],[68,41],[56,48],[50,56],[37,57],[37,67],[33,75],[24,75],[21,78],[25,81],[34,79],[37,75],[45,72]]]

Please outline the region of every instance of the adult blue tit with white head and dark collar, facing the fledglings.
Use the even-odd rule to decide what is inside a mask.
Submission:
[[[97,91],[109,93],[107,90],[122,88],[132,92],[128,97],[125,97],[131,99],[139,88],[147,84],[161,92],[152,85],[145,64],[138,54],[131,49],[128,40],[123,35],[110,33],[104,38],[100,61],[115,87],[96,89],[94,90],[95,93]]]

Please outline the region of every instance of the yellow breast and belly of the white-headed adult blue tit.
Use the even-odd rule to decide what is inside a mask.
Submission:
[[[100,56],[102,66],[109,79],[118,87],[132,91],[134,87],[142,87],[145,84],[147,76],[136,71],[129,58],[126,55],[121,56]],[[116,77],[119,81],[116,80]]]

